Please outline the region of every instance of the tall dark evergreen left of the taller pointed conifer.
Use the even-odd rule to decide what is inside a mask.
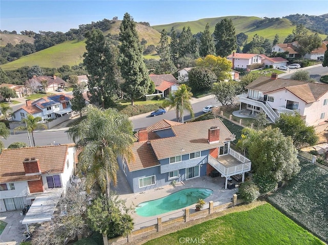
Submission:
[[[87,52],[83,55],[83,62],[88,71],[91,103],[105,108],[113,104],[119,86],[114,73],[116,59],[113,48],[106,43],[99,29],[87,32],[86,37]]]

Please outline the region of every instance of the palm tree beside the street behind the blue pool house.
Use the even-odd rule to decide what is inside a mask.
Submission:
[[[193,96],[193,93],[190,92],[191,87],[186,84],[181,84],[178,90],[174,93],[175,101],[177,104],[177,108],[180,112],[181,122],[183,123],[183,110],[188,110],[191,117],[194,117],[193,107],[190,103],[190,99]],[[180,121],[180,120],[179,120]]]

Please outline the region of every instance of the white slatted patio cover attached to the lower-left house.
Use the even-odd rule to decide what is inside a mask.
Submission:
[[[63,188],[48,189],[43,193],[30,194],[35,199],[26,213],[22,224],[50,221],[61,193],[63,193]]]

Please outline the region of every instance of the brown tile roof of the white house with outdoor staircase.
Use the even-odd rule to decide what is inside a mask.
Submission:
[[[273,91],[285,88],[286,90],[289,90],[293,94],[298,96],[303,101],[310,101],[306,103],[316,101],[321,96],[328,93],[328,84],[304,82],[283,78],[277,78],[276,80],[274,80],[270,77],[259,77],[258,79],[247,85],[245,88],[261,91],[264,94],[268,94]]]

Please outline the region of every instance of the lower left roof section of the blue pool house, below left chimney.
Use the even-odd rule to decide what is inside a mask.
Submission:
[[[155,153],[149,143],[134,143],[132,146],[132,151],[135,156],[135,161],[132,163],[127,163],[130,172],[159,165]]]

